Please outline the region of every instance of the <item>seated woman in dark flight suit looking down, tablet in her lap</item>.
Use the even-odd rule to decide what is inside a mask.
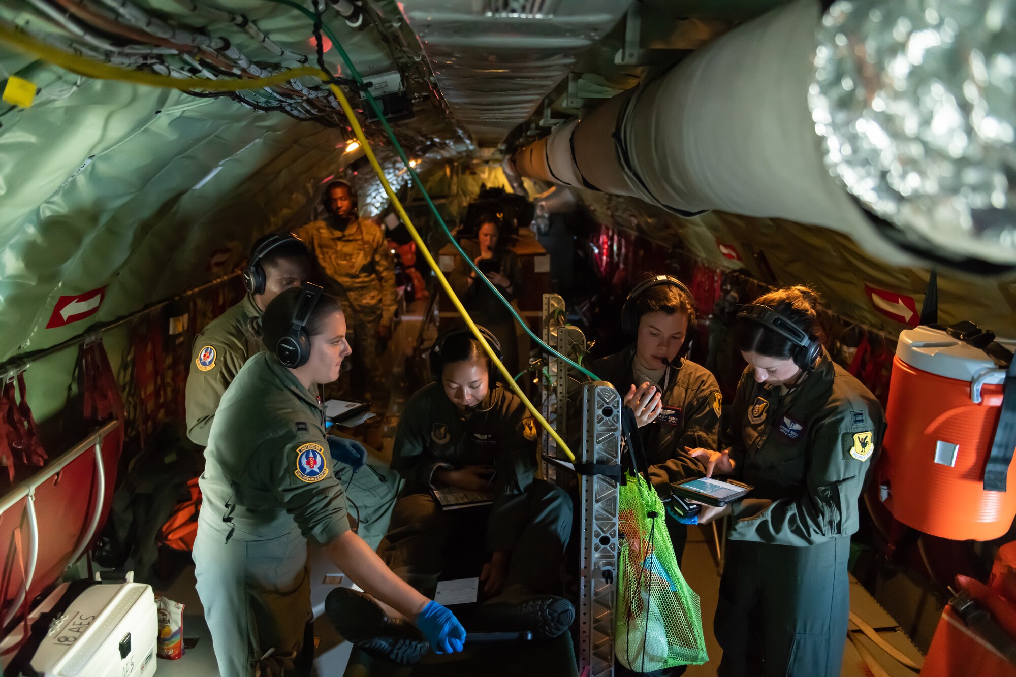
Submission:
[[[499,352],[494,335],[481,331]],[[487,599],[474,610],[471,627],[556,637],[575,617],[572,604],[554,595],[562,584],[571,500],[535,479],[536,427],[521,401],[495,382],[483,347],[467,328],[439,336],[430,364],[435,382],[409,398],[395,435],[392,468],[406,485],[379,553],[399,577],[433,595],[449,541],[459,549],[486,545],[489,559],[480,579]],[[489,491],[493,505],[442,510],[434,490],[445,487]],[[489,510],[480,527],[486,543],[469,528],[475,510]],[[329,595],[326,610],[350,638],[346,630],[357,633],[348,627],[352,619],[376,613],[376,606],[368,596],[339,589]]]

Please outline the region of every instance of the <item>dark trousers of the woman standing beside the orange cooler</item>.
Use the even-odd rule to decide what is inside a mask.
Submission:
[[[836,677],[850,609],[850,539],[726,542],[713,629],[718,677]]]

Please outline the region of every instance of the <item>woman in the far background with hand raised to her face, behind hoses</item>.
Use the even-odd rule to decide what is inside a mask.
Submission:
[[[494,214],[484,216],[478,223],[477,239],[462,240],[462,249],[494,283],[501,296],[510,302],[521,290],[518,256],[508,249],[506,238],[501,237],[500,219]],[[477,279],[477,273],[461,258],[455,259],[455,267],[448,279],[473,321],[497,336],[504,353],[505,367],[514,374],[518,371],[518,341],[511,312],[487,285]]]

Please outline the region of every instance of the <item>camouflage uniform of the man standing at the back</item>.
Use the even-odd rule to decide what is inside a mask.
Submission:
[[[367,219],[339,230],[329,218],[307,224],[298,235],[317,261],[325,292],[342,302],[353,364],[363,369],[374,410],[384,411],[388,383],[378,359],[377,329],[391,325],[397,305],[395,263],[384,232]]]

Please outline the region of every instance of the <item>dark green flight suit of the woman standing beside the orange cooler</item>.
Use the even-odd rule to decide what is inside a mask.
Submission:
[[[878,401],[825,351],[790,389],[745,370],[722,441],[755,490],[732,514],[719,675],[839,675],[850,535],[884,432]]]

